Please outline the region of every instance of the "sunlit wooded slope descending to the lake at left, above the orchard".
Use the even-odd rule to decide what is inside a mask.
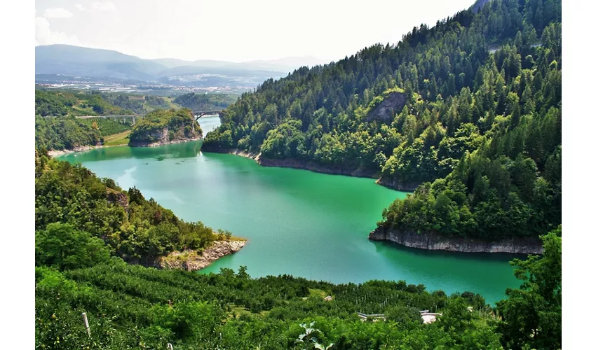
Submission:
[[[36,155],[35,228],[36,262],[59,268],[105,260],[97,239],[127,261],[152,264],[172,251],[201,250],[227,237],[201,222],[182,221],[136,188],[127,194],[111,179],[43,154]],[[65,260],[73,251],[81,255]]]

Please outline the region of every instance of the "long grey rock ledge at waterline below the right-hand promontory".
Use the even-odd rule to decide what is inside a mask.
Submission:
[[[379,226],[370,232],[374,241],[393,241],[410,248],[463,253],[523,253],[542,254],[542,242],[536,237],[514,237],[500,241],[482,241],[460,237],[443,237],[432,232],[417,233]]]

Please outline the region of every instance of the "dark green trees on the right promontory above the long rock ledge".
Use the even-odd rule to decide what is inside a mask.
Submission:
[[[383,224],[487,240],[536,237],[561,223],[561,180],[553,180],[522,154],[515,160],[464,155],[445,179],[423,183],[393,202]]]

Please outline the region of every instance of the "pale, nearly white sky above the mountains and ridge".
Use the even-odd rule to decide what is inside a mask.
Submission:
[[[142,58],[337,61],[474,0],[36,0],[35,45],[105,48]]]

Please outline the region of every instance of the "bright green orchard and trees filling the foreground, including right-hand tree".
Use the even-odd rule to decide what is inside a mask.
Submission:
[[[382,349],[407,344],[412,349],[502,349],[503,342],[505,349],[557,349],[560,256],[560,238],[550,235],[543,258],[515,262],[528,270],[522,273],[522,289],[510,290],[510,299],[499,302],[502,321],[479,295],[449,297],[404,281],[356,285],[286,275],[251,279],[245,268],[238,273],[222,269],[219,274],[196,274],[118,261],[65,272],[36,267],[36,345],[320,349],[334,344],[331,349]],[[552,272],[554,276],[548,276]],[[308,297],[309,290],[324,290],[334,299]],[[248,310],[234,317],[238,309]],[[442,315],[422,324],[423,309]],[[83,311],[90,321],[90,339],[81,322]],[[356,312],[385,314],[386,321],[363,322]],[[532,323],[536,320],[537,326]]]

